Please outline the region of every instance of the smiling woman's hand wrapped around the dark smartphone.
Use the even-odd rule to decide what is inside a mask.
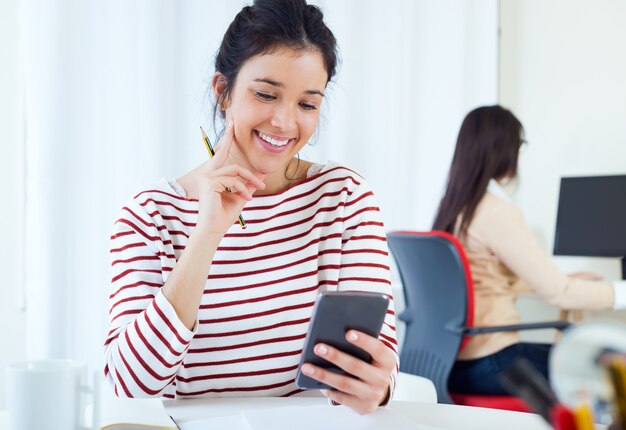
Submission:
[[[311,363],[304,364],[302,372],[334,388],[322,390],[324,396],[359,414],[367,414],[375,411],[388,396],[391,373],[396,361],[389,348],[375,337],[350,330],[346,333],[346,340],[369,353],[372,362],[367,363],[323,343],[316,344],[314,351],[324,360],[358,379]]]

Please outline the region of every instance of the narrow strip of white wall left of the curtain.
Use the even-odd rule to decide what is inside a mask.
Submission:
[[[0,1],[0,410],[4,409],[4,367],[24,358],[21,215],[22,154],[17,71],[17,0]]]

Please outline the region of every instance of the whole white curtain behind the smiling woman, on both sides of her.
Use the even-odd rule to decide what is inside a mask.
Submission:
[[[213,58],[246,3],[19,3],[28,358],[100,367],[111,226],[206,159]],[[497,101],[497,0],[318,4],[342,64],[303,158],[360,171],[388,229],[429,228],[462,117]]]

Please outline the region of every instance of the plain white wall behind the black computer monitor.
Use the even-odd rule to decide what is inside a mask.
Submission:
[[[501,0],[500,99],[529,142],[515,198],[550,254],[560,177],[626,173],[624,17],[621,0]],[[554,260],[568,272],[621,276],[614,258]],[[534,300],[520,305],[528,319],[556,315]]]

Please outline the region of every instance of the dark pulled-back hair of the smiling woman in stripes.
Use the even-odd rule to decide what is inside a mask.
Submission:
[[[328,74],[326,82],[335,75],[337,42],[317,6],[305,0],[255,0],[237,14],[215,57],[215,71],[225,78],[216,106],[228,99],[246,60],[283,46],[319,51]]]

